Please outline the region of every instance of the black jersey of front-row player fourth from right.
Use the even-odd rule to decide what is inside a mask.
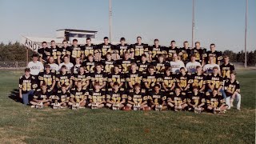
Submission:
[[[166,98],[166,94],[162,90],[160,90],[158,93],[151,91],[149,94],[150,101],[154,102],[155,105],[162,105],[162,102],[165,102]]]

